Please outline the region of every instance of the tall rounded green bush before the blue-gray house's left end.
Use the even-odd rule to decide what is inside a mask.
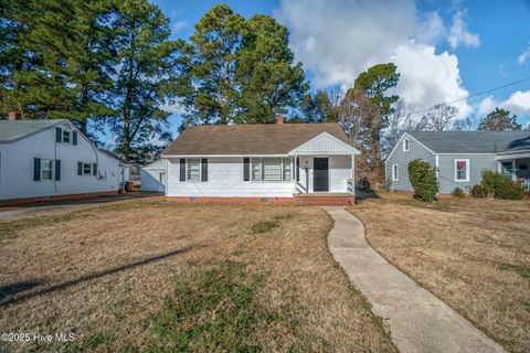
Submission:
[[[409,179],[414,188],[414,199],[432,202],[439,190],[436,169],[430,163],[415,159],[409,163]]]

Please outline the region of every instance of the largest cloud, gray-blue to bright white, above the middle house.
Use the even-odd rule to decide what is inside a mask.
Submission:
[[[296,60],[318,88],[351,87],[362,71],[394,62],[396,92],[414,109],[467,96],[457,56],[435,51],[446,32],[442,19],[418,15],[412,0],[283,0],[275,17],[289,29]],[[465,100],[458,107],[460,116],[470,109]]]

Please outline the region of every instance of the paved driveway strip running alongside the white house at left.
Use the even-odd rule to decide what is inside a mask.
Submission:
[[[134,192],[134,193],[128,193],[128,194],[117,195],[117,196],[100,196],[100,197],[92,197],[92,199],[85,199],[85,200],[51,202],[43,205],[41,204],[22,205],[22,206],[4,207],[3,210],[0,207],[0,221],[18,217],[18,216],[33,215],[40,212],[49,212],[49,211],[65,210],[65,208],[81,208],[81,207],[88,207],[94,204],[100,204],[100,203],[127,201],[127,200],[136,200],[136,199],[144,199],[144,197],[162,196],[162,195],[163,195],[162,193],[157,193],[157,192]]]

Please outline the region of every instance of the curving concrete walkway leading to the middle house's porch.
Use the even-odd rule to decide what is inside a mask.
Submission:
[[[364,226],[341,207],[325,207],[335,220],[328,246],[348,277],[390,325],[400,352],[504,352],[442,300],[390,265],[364,239]]]

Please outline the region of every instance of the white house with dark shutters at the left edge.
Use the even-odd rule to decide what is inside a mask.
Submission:
[[[0,203],[116,193],[124,168],[68,120],[0,121]]]

